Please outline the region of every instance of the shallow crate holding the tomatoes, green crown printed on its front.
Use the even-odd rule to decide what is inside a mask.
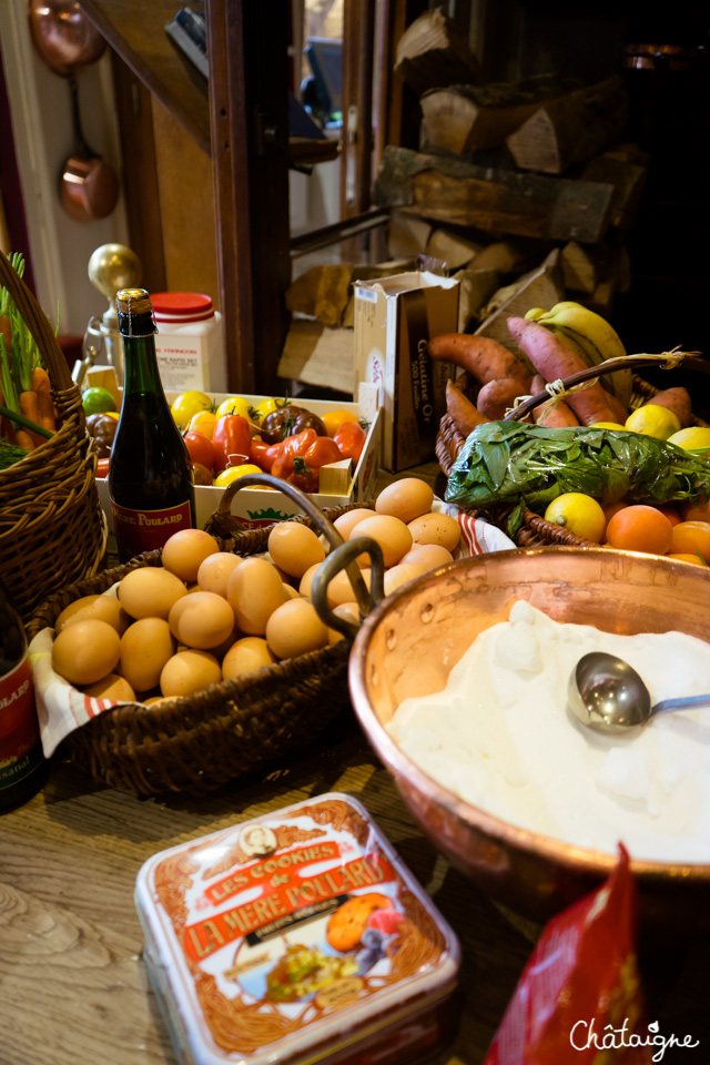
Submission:
[[[242,394],[243,395],[243,394]],[[176,398],[176,393],[166,392],[168,402]],[[214,394],[212,398],[216,404],[223,399],[229,399],[227,394]],[[245,395],[244,398],[256,406],[265,396]],[[367,439],[363,448],[359,462],[352,470],[347,490],[337,494],[314,493],[311,498],[322,510],[332,507],[345,507],[351,503],[361,503],[365,499],[372,499],[375,491],[375,479],[379,466],[379,439],[382,412],[376,407],[363,408],[356,403],[343,403],[342,400],[325,399],[294,399],[300,407],[305,407],[320,416],[328,410],[352,410],[359,417],[369,422]],[[113,536],[113,519],[111,516],[111,499],[109,497],[109,481],[103,478],[97,480],[99,499],[103,507],[109,525],[109,555],[115,555],[115,538]],[[197,528],[204,528],[207,518],[212,517],[217,509],[224,488],[205,487],[199,485],[195,487],[195,508],[197,518]],[[271,525],[274,521],[286,521],[296,514],[301,514],[297,504],[287,496],[283,496],[267,488],[248,488],[236,494],[232,501],[232,514],[239,518],[240,524],[245,529],[256,529]]]

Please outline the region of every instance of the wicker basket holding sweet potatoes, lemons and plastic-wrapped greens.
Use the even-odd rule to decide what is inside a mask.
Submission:
[[[566,388],[570,388],[572,385],[581,384],[582,382],[589,381],[592,377],[599,377],[605,373],[612,373],[615,369],[623,369],[626,364],[631,367],[641,365],[658,366],[658,359],[649,358],[647,363],[643,363],[641,358],[636,356],[632,361],[631,358],[610,359],[608,365],[602,363],[600,366],[591,367],[591,369],[572,374],[570,377],[565,378],[562,384]],[[683,366],[698,369],[703,374],[710,374],[710,363],[700,358],[686,356]],[[632,385],[632,409],[636,409],[642,404],[648,403],[648,400],[652,399],[653,396],[659,392],[658,388],[655,388],[653,385],[650,385],[637,374],[633,375]],[[520,404],[520,406],[510,414],[506,415],[506,418],[508,420],[520,420],[528,414],[529,410],[539,406],[540,403],[545,403],[546,399],[549,399],[549,394],[547,392],[540,392],[531,399]],[[702,426],[707,425],[707,423],[701,418],[694,416],[691,418],[691,424]],[[446,477],[450,475],[452,467],[456,462],[458,453],[464,446],[465,440],[466,437],[456,428],[450,416],[445,414],[439,423],[439,430],[436,438],[436,457]],[[494,525],[498,526],[499,529],[503,529],[504,532],[507,532],[508,517],[514,509],[515,508],[509,504],[501,504],[500,506],[489,507],[485,510],[475,510],[471,513],[476,517],[485,518],[486,520],[491,521]],[[525,508],[523,525],[516,534],[515,542],[518,547],[542,547],[554,546],[556,544],[561,544],[566,547],[597,546],[591,544],[589,540],[580,539],[578,536],[575,536],[574,532],[569,532],[567,529],[564,529],[558,525],[552,525],[551,521],[546,521],[545,518],[539,516],[539,514],[535,514],[527,507]]]

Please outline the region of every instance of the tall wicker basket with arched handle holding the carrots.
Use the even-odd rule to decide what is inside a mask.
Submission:
[[[0,470],[0,574],[27,621],[57,588],[98,571],[108,529],[81,393],[47,315],[2,253],[0,285],[10,292],[37,341],[60,426],[51,439]]]

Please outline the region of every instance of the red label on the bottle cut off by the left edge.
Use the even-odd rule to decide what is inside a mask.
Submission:
[[[0,789],[29,777],[42,760],[32,671],[26,655],[0,677]]]

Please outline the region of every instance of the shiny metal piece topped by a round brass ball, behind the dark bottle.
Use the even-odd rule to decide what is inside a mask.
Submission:
[[[125,244],[101,244],[89,260],[89,280],[106,300],[109,306],[103,315],[94,314],[87,326],[83,341],[83,358],[75,363],[72,377],[81,386],[87,371],[92,366],[112,366],[119,386],[123,385],[123,345],[119,334],[115,311],[115,294],[120,288],[140,284],[143,273],[141,261]]]

